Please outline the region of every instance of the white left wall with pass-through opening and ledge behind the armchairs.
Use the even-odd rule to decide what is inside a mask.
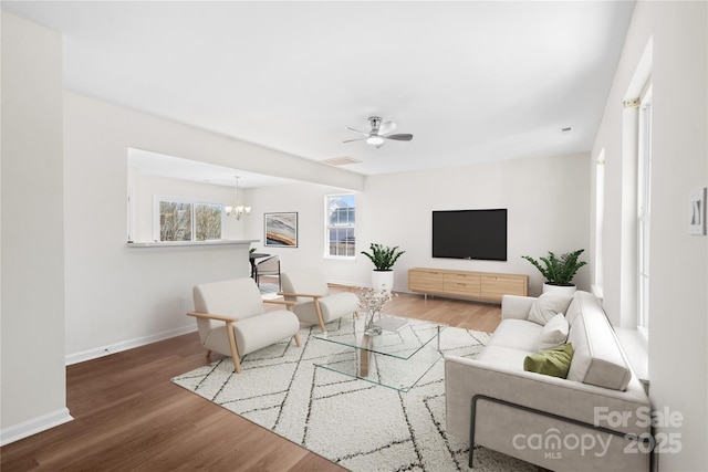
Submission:
[[[69,361],[192,329],[185,312],[192,306],[194,284],[248,275],[248,245],[126,245],[128,147],[257,172],[272,162],[281,176],[305,169],[310,179],[352,188],[363,182],[330,166],[72,93],[64,96],[64,139]]]

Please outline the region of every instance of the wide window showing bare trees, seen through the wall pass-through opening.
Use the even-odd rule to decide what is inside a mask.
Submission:
[[[208,241],[221,239],[223,206],[159,198],[156,201],[158,241]]]

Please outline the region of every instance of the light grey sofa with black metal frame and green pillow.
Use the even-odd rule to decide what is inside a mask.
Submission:
[[[477,358],[445,357],[447,431],[550,470],[648,471],[649,398],[598,301],[579,291],[569,302],[568,378],[523,369],[543,331],[529,319],[534,297],[504,295]]]

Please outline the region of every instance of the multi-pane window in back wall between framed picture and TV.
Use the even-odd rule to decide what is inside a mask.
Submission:
[[[331,195],[325,200],[325,256],[354,258],[356,200],[354,193]]]

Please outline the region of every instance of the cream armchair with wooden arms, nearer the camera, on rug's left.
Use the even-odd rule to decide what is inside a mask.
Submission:
[[[292,336],[300,346],[300,322],[290,311],[294,303],[269,300],[289,310],[266,312],[263,300],[251,277],[232,279],[195,285],[195,311],[199,339],[207,349],[231,356],[233,367],[241,373],[240,356]]]

